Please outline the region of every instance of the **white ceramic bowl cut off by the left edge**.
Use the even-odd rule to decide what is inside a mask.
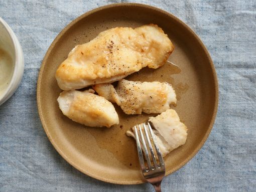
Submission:
[[[0,92],[0,105],[2,105],[14,94],[21,83],[24,72],[24,58],[20,42],[10,26],[1,17],[0,48],[5,50],[11,56],[14,66],[8,86]]]

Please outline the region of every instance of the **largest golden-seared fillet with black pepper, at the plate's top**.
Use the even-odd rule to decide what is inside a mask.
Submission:
[[[63,90],[118,81],[143,67],[161,67],[173,49],[157,25],[109,29],[76,46],[60,64],[56,79]]]

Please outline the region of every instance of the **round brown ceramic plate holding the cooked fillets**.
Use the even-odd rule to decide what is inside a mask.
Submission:
[[[136,144],[125,132],[148,119],[148,114],[125,115],[115,105],[119,125],[85,127],[62,114],[57,98],[61,92],[55,72],[71,49],[86,43],[99,32],[113,27],[157,24],[172,40],[175,50],[163,67],[143,69],[129,80],[168,82],[177,93],[173,107],[188,127],[185,145],[166,158],[166,175],[188,162],[200,149],[212,128],[218,103],[217,78],[211,58],[197,35],[173,15],[140,4],[114,4],[92,10],[71,22],[54,40],[41,66],[37,102],[47,136],[56,150],[78,170],[94,178],[119,184],[145,182]],[[154,115],[154,114],[153,114]]]

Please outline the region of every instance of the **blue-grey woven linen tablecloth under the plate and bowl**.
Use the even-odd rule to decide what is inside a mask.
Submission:
[[[120,2],[126,1],[0,0],[0,17],[16,33],[25,58],[19,89],[0,106],[0,191],[154,191],[150,184],[105,183],[73,168],[53,148],[37,112],[38,72],[57,34],[83,13]],[[163,180],[163,191],[255,191],[256,2],[136,2],[188,24],[208,48],[219,81],[219,109],[208,140]]]

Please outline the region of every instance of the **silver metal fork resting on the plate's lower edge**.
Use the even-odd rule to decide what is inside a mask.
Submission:
[[[152,144],[151,144],[151,139],[149,137],[148,130],[147,130],[147,124],[148,124],[148,128],[150,130],[151,138],[153,140],[153,143],[154,143],[154,146],[156,149],[159,164],[157,162],[156,155],[155,155],[155,152],[154,152]],[[134,126],[141,169],[142,169],[143,176],[149,183],[151,183],[155,187],[156,192],[161,192],[161,182],[163,180],[163,177],[165,176],[165,162],[164,162],[163,156],[159,150],[156,137],[151,128],[151,125],[152,125],[152,127],[154,127],[154,125],[150,122],[148,122],[147,124],[143,123],[147,142],[145,142],[141,125]],[[139,130],[140,130],[141,141],[142,141],[142,144],[144,147],[145,158],[147,161],[146,163],[144,162],[142,147],[141,147],[141,142],[140,142],[137,127],[139,127]],[[151,157],[153,159],[153,165],[151,164],[151,159],[149,156],[148,148],[150,149],[150,152],[151,152]],[[146,164],[146,166],[145,166],[145,164]]]

